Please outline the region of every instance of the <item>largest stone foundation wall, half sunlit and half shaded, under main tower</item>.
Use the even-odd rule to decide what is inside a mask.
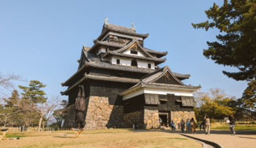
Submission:
[[[109,105],[108,98],[90,96],[86,112],[87,129],[123,128],[123,106]]]

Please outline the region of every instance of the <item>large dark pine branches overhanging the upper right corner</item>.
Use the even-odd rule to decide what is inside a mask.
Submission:
[[[237,81],[256,78],[256,0],[224,0],[224,5],[205,11],[212,20],[193,24],[194,28],[218,28],[218,42],[207,42],[203,50],[207,59],[224,66],[236,67],[238,72],[223,71]]]

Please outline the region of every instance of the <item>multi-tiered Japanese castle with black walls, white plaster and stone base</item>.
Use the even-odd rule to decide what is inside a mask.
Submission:
[[[78,85],[84,85],[86,96],[85,128],[159,128],[195,118],[193,92],[201,86],[185,85],[191,75],[176,73],[171,67],[159,67],[168,52],[144,46],[149,34],[132,28],[109,24],[106,18],[102,32],[92,47],[83,46],[77,71],[61,83],[69,96],[64,127],[74,127],[74,103]]]

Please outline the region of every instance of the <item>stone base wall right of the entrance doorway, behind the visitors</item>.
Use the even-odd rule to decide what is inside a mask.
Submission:
[[[181,119],[187,120],[187,118],[191,119],[192,117],[196,121],[195,112],[186,112],[186,111],[177,111],[177,112],[170,112],[171,120],[178,126],[178,122],[181,122]]]

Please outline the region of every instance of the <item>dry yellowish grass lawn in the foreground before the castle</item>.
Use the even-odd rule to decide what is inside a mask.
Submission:
[[[106,129],[84,131],[84,138],[73,139],[72,131],[56,133],[7,133],[20,137],[16,141],[1,141],[1,147],[202,147],[201,143],[164,131]]]

